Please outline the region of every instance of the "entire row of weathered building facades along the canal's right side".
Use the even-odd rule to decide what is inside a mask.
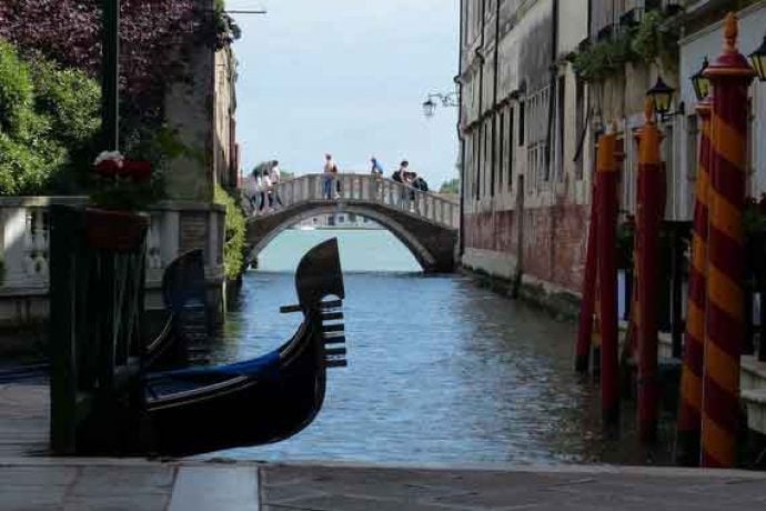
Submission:
[[[625,221],[636,209],[635,134],[658,78],[676,90],[659,120],[665,220],[689,221],[699,137],[691,77],[720,53],[733,9],[748,54],[766,32],[764,1],[463,0],[463,264],[516,289],[577,294],[597,137],[617,133]],[[752,197],[766,191],[765,90],[750,88]]]

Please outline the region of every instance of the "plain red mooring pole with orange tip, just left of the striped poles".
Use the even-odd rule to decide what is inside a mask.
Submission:
[[[665,211],[661,202],[662,180],[659,130],[654,103],[646,100],[645,123],[638,142],[638,438],[642,443],[657,439],[657,292],[659,280],[659,224]]]

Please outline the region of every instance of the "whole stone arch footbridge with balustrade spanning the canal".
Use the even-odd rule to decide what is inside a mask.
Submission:
[[[340,197],[323,197],[322,174],[302,176],[273,188],[282,206],[274,211],[253,211],[248,219],[250,260],[280,232],[306,218],[354,213],[391,231],[426,273],[455,269],[460,207],[445,197],[371,174],[337,176]],[[333,187],[334,188],[334,187]],[[333,190],[334,191],[334,190]]]

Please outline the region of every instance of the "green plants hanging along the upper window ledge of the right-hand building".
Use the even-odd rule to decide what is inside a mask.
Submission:
[[[627,63],[662,63],[675,67],[681,20],[658,10],[647,12],[641,23],[624,29],[616,38],[572,53],[570,61],[579,78],[598,82],[622,72]],[[657,62],[661,59],[662,62]]]

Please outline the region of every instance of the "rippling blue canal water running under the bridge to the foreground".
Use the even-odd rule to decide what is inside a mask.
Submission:
[[[212,361],[258,355],[294,331],[299,318],[278,312],[295,302],[292,272],[310,247],[332,236],[339,237],[345,271],[350,365],[330,372],[324,408],[302,433],[224,455],[419,463],[645,461],[641,453],[626,452],[624,442],[601,438],[597,389],[572,370],[575,324],[554,321],[466,277],[425,277],[387,231],[281,234],[261,254],[260,270],[245,275]]]

